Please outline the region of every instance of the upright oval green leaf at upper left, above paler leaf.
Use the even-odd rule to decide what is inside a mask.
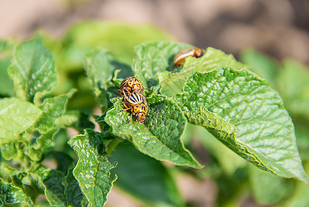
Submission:
[[[17,97],[25,101],[33,101],[37,92],[49,92],[57,82],[53,56],[41,45],[39,38],[15,47],[8,74]]]

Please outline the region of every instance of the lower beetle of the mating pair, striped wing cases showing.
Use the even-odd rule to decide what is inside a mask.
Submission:
[[[118,97],[118,99],[120,99]],[[147,101],[144,95],[140,92],[133,92],[129,95],[124,93],[124,101],[122,101],[122,104],[124,105],[124,109],[120,110],[119,112],[131,110],[131,117],[128,121],[128,123],[131,122],[132,115],[136,115],[138,123],[142,124],[146,119],[146,114],[148,110]]]

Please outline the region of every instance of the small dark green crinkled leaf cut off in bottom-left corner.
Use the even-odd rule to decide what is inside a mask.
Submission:
[[[34,206],[21,188],[5,184],[0,180],[0,204],[4,206]],[[2,206],[2,205],[1,205]]]

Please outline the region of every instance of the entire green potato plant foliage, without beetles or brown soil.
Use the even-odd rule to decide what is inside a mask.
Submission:
[[[249,184],[259,204],[308,201],[308,68],[205,48],[172,70],[189,47],[151,26],[109,22],[0,41],[0,206],[104,206],[113,186],[144,206],[186,206],[176,174],[188,171],[216,181],[219,206],[241,193],[235,184]],[[119,112],[129,76],[151,88],[144,124]],[[194,139],[212,161],[201,163]]]

